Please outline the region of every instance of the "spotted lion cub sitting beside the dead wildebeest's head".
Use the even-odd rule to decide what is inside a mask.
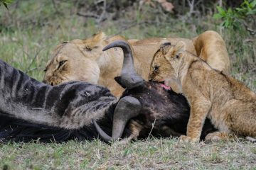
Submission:
[[[217,137],[230,134],[256,137],[256,94],[187,52],[183,42],[166,45],[156,52],[149,78],[176,81],[186,96],[191,115],[181,141],[197,142],[206,117],[220,131],[214,133]]]

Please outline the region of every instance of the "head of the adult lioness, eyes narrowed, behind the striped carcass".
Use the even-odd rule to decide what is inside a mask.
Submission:
[[[97,60],[102,55],[104,40],[105,34],[98,33],[86,40],[71,40],[58,45],[46,65],[43,81],[53,86],[78,80],[97,84],[100,76]]]

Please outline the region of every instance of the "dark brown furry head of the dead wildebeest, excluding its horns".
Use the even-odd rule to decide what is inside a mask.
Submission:
[[[142,111],[132,119],[143,127],[139,137],[147,137],[151,130],[151,135],[162,137],[170,135],[178,137],[186,134],[190,107],[183,95],[166,90],[159,83],[144,81],[139,86],[126,89],[120,98],[124,96],[132,96],[142,103]],[[171,133],[166,132],[164,127],[168,127]],[[210,120],[206,120],[201,139],[214,131],[216,129],[213,128]]]

